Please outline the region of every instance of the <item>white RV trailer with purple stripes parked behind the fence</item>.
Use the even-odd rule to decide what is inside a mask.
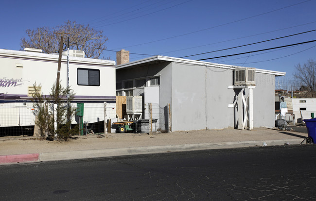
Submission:
[[[0,49],[0,127],[34,125],[33,84],[49,95],[56,82],[58,54]],[[84,103],[84,121],[115,118],[115,61],[70,56],[69,86],[76,93],[72,105]],[[67,56],[62,56],[60,82],[66,88]],[[101,108],[91,111],[89,108]],[[75,123],[75,122],[73,122]]]

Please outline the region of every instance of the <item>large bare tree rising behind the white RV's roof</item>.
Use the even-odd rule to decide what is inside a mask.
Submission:
[[[37,48],[44,53],[58,53],[60,36],[70,37],[70,49],[83,50],[88,58],[98,59],[106,49],[105,42],[108,38],[103,31],[90,28],[89,25],[77,24],[67,21],[65,24],[54,28],[41,27],[35,30],[26,30],[29,39],[21,39],[21,48]],[[67,40],[64,40],[67,41]],[[67,49],[64,43],[63,50]],[[104,58],[104,57],[103,57]]]

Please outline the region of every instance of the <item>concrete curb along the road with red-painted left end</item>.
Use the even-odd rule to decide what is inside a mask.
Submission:
[[[166,152],[176,152],[176,151],[198,151],[198,150],[229,149],[229,148],[242,148],[242,147],[254,147],[254,146],[262,147],[263,143],[265,143],[266,146],[284,145],[285,143],[293,145],[293,144],[300,144],[302,141],[303,139],[239,141],[239,142],[161,145],[161,146],[128,147],[128,148],[114,148],[114,149],[102,149],[102,150],[82,150],[82,151],[18,154],[18,155],[0,156],[0,165],[20,163],[20,162],[22,163],[22,162],[87,159],[87,158],[151,154],[151,153],[166,153]]]

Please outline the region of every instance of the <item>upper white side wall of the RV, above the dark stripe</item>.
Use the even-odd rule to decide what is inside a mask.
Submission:
[[[23,67],[16,67],[22,65]],[[58,55],[0,50],[0,93],[19,95],[28,98],[28,86],[40,84],[42,93],[49,95],[56,82]],[[77,68],[99,69],[100,86],[77,85]],[[105,60],[70,57],[69,85],[76,96],[108,96],[115,98],[115,63]],[[7,80],[17,81],[17,84],[7,84]],[[60,81],[66,87],[67,57],[63,56]],[[112,100],[113,101],[113,100]]]

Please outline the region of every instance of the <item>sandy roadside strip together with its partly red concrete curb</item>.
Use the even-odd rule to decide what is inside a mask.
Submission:
[[[68,142],[44,138],[0,137],[0,164],[111,157],[172,151],[226,149],[251,146],[300,144],[308,135],[278,129],[232,128],[181,131],[166,134],[107,134],[78,136]]]

